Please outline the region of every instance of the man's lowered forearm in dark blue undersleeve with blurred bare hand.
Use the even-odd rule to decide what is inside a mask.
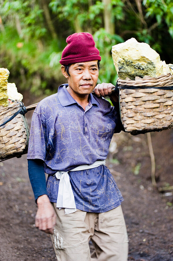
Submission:
[[[28,174],[38,206],[35,226],[46,233],[53,234],[56,214],[47,196],[44,161],[28,159]]]

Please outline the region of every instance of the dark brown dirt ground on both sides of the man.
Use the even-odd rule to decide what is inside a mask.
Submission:
[[[31,114],[26,115],[29,124]],[[157,184],[173,185],[173,131],[151,133],[151,139]],[[173,261],[172,192],[159,193],[152,186],[146,134],[115,134],[112,144],[118,147],[116,153],[110,153],[106,165],[124,197],[128,260]],[[37,207],[27,155],[0,163],[0,189],[0,261],[55,261],[50,236],[34,225]]]

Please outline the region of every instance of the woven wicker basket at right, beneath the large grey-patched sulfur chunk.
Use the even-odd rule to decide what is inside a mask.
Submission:
[[[173,126],[173,77],[118,79],[121,121],[133,135]]]

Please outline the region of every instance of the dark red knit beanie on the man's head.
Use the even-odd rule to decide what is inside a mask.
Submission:
[[[95,42],[90,33],[74,33],[67,37],[67,46],[64,48],[60,63],[88,62],[101,60],[99,50],[95,47]]]

